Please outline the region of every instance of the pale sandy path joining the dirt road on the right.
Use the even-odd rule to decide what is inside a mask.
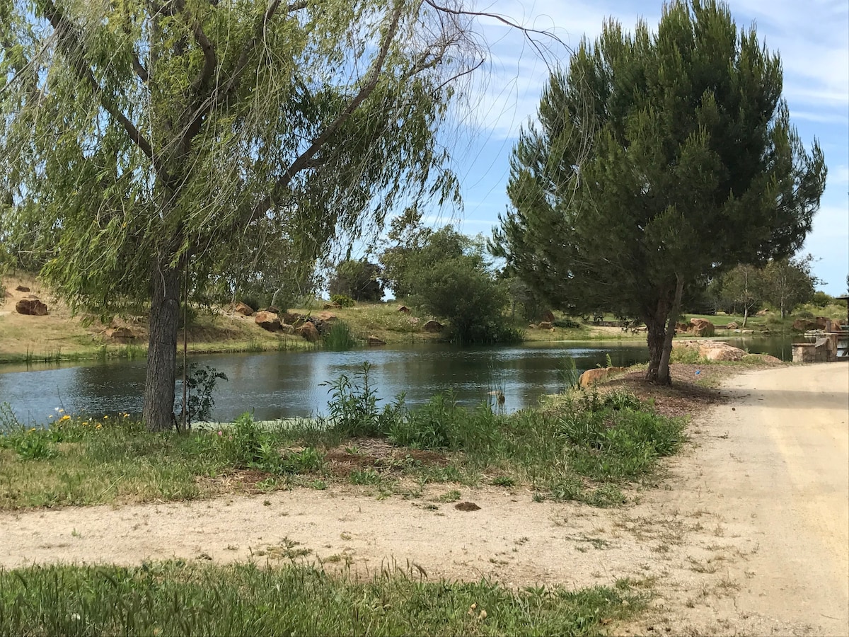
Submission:
[[[751,371],[722,392],[661,488],[617,510],[458,487],[481,507],[462,511],[439,501],[446,485],[37,510],[0,515],[0,566],[319,558],[511,586],[633,578],[655,597],[619,634],[849,634],[849,365]]]

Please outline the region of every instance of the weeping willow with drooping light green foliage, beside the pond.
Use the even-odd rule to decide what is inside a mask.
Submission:
[[[75,308],[149,301],[149,429],[171,426],[187,271],[456,194],[436,130],[480,59],[453,1],[0,3],[3,232]]]

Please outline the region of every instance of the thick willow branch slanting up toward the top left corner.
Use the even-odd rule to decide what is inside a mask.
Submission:
[[[118,104],[111,99],[98,84],[97,78],[94,76],[93,70],[87,60],[86,50],[82,45],[82,38],[74,25],[71,24],[65,15],[59,12],[53,0],[44,0],[42,10],[45,17],[53,26],[53,31],[59,40],[59,45],[64,49],[65,55],[68,57],[70,66],[76,72],[76,76],[86,82],[91,87],[93,93],[97,96],[100,105],[106,110],[110,116],[121,124],[121,127],[127,132],[127,135],[136,144],[144,155],[146,155],[154,166],[154,170],[159,175],[160,179],[165,183],[169,183],[170,177],[161,166],[159,157],[154,153],[153,147],[141,131],[129,120],[129,118],[121,112]]]

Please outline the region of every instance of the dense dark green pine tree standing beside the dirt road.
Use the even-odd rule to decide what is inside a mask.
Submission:
[[[779,56],[723,4],[667,4],[654,33],[606,22],[549,77],[492,247],[561,307],[643,320],[647,379],[670,382],[684,290],[811,229],[823,154],[781,93]]]

